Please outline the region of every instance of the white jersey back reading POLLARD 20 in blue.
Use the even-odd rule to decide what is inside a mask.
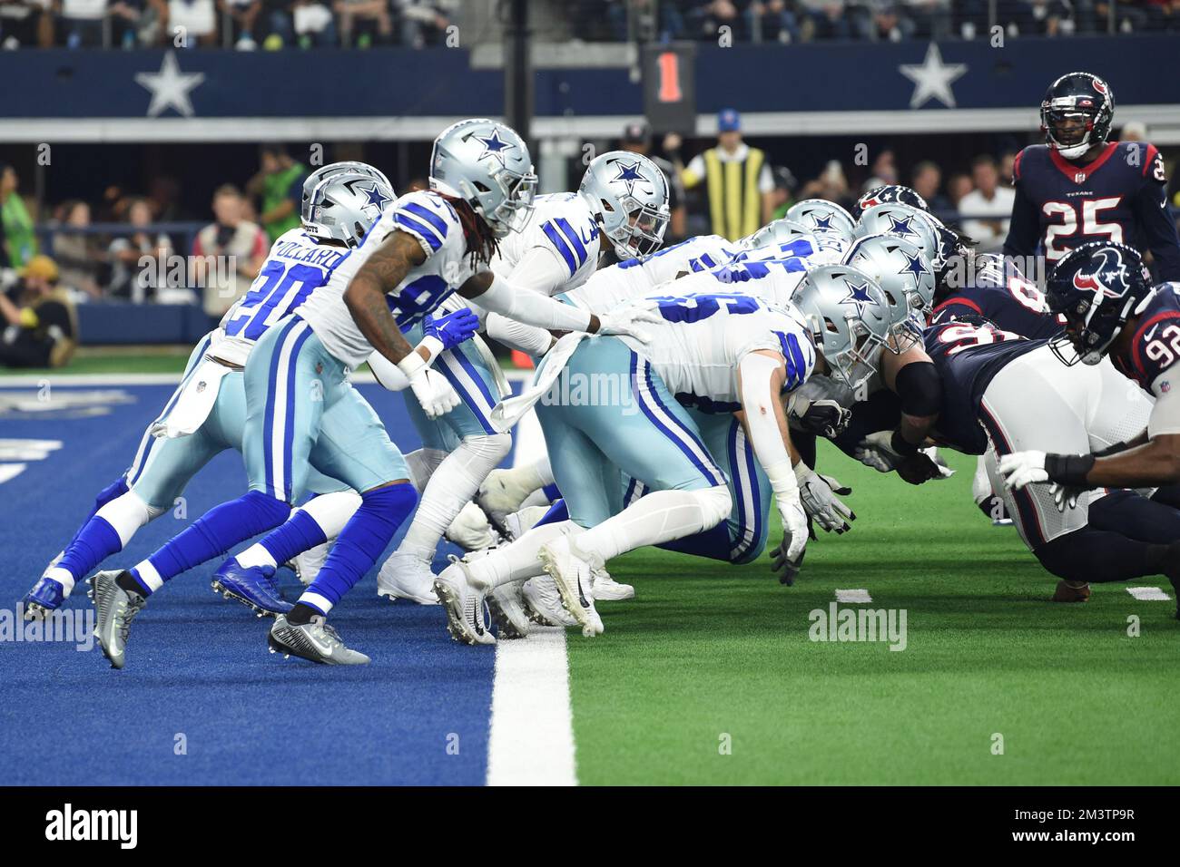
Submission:
[[[280,235],[245,295],[222,318],[225,336],[215,340],[210,352],[244,366],[255,341],[327,283],[349,252],[320,243],[303,229]]]

